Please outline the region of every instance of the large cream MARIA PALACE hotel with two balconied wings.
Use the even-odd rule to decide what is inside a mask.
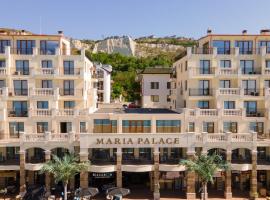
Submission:
[[[70,189],[118,186],[147,190],[154,199],[195,199],[200,180],[179,161],[217,152],[232,164],[215,175],[209,196],[264,195],[269,52],[265,30],[209,32],[173,64],[171,109],[97,109],[96,70],[84,50],[71,50],[62,35],[0,35],[0,188],[44,184],[50,191],[55,183],[38,173],[42,163],[74,152],[91,166]]]

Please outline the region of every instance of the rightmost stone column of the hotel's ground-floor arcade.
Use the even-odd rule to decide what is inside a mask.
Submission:
[[[256,199],[257,193],[257,150],[252,151],[252,171],[250,179],[250,197]]]

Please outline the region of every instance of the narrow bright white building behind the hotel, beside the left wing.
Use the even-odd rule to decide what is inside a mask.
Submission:
[[[98,103],[111,102],[111,73],[112,66],[96,64]]]

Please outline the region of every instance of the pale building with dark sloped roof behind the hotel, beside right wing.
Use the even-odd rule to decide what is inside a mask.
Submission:
[[[143,108],[168,108],[170,102],[171,68],[146,68],[139,73],[141,106]]]

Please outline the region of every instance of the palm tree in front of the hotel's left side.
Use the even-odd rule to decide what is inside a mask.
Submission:
[[[51,173],[55,178],[55,182],[63,182],[64,200],[67,200],[67,185],[69,180],[81,171],[86,171],[89,166],[89,161],[79,162],[79,158],[74,154],[65,154],[63,158],[53,155],[52,160],[45,163],[40,172]]]

